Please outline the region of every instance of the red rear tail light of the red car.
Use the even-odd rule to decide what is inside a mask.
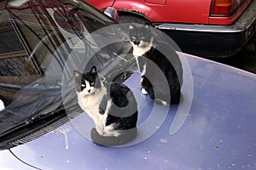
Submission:
[[[211,15],[230,15],[236,11],[241,0],[212,0]]]

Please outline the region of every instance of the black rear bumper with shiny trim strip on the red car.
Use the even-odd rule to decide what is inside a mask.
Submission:
[[[165,31],[185,53],[203,57],[229,57],[237,54],[253,37],[256,27],[256,1],[230,26],[154,23]]]

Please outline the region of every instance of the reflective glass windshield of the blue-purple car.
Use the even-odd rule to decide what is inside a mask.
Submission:
[[[74,69],[96,65],[108,81],[134,63],[119,57],[125,41],[107,41],[124,38],[121,28],[97,31],[115,22],[85,3],[1,1],[0,8],[0,136],[38,115],[76,108]]]

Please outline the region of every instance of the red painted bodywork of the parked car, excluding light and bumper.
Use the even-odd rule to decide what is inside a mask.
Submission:
[[[103,9],[108,6],[93,0],[87,2]],[[112,1],[110,1],[112,2]],[[110,3],[109,2],[109,3]],[[214,16],[211,14],[211,1],[178,1],[178,0],[163,0],[163,1],[144,1],[144,0],[115,0],[113,7],[119,11],[136,11],[144,14],[148,20],[157,23],[183,23],[183,24],[204,24],[204,25],[231,25],[245,11],[248,4],[252,0],[239,1],[242,2],[237,10],[228,16]],[[168,12],[163,12],[168,11]]]

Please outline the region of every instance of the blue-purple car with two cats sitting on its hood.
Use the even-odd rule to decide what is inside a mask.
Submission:
[[[0,3],[1,169],[255,169],[256,75],[177,52],[183,100],[156,105],[140,91],[125,26],[78,1]],[[138,136],[94,144],[73,70],[136,95]]]

